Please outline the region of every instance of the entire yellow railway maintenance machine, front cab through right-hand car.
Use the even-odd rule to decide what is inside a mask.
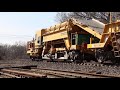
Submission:
[[[91,23],[92,25],[90,25]],[[97,23],[102,28],[97,27]],[[30,51],[28,54],[32,59],[81,62],[97,58],[99,62],[102,62],[106,58],[103,55],[105,52],[113,51],[113,56],[119,56],[118,46],[114,43],[118,44],[119,31],[119,22],[104,25],[95,19],[85,22],[85,20],[78,21],[72,18],[50,28],[37,31],[33,41],[34,48],[32,49],[34,50],[31,52],[32,54]]]

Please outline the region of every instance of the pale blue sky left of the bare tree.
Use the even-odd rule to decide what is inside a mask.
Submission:
[[[0,12],[0,43],[31,40],[35,32],[55,22],[56,12]]]

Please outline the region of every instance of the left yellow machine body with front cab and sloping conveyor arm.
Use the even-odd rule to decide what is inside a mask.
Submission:
[[[31,52],[34,56],[42,56],[42,54],[50,52],[55,53],[57,51],[80,51],[82,47],[77,44],[78,42],[75,41],[75,44],[72,44],[71,36],[73,34],[75,36],[77,35],[76,37],[78,37],[79,34],[91,35],[98,40],[102,37],[99,32],[89,28],[87,25],[82,24],[75,19],[69,19],[66,22],[37,31],[35,40],[33,41],[35,44],[34,50],[28,51],[27,53]],[[87,44],[91,43],[91,38],[88,39],[89,42],[87,42]]]

